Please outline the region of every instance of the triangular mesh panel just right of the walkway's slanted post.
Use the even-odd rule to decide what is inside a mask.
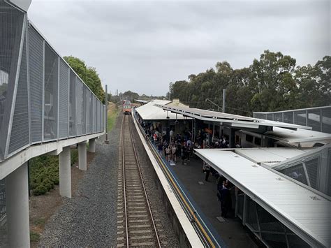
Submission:
[[[8,153],[15,152],[15,150],[23,147],[24,145],[28,145],[30,142],[26,41],[27,38],[25,37]]]

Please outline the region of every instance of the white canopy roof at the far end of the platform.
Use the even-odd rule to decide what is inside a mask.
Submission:
[[[135,108],[135,110],[144,120],[191,119],[191,118],[186,118],[183,115],[168,112],[163,110],[162,108],[156,107],[156,104],[166,105],[166,104],[170,104],[171,102],[172,101],[168,101],[168,100],[152,100],[146,103],[145,105]]]

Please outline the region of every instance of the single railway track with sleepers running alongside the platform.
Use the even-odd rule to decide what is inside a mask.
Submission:
[[[133,143],[131,115],[124,115],[119,152],[117,247],[161,247]],[[163,244],[166,242],[163,242]]]

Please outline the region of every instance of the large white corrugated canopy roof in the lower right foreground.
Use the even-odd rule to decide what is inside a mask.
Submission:
[[[195,149],[221,175],[312,247],[330,247],[331,203],[233,150]]]

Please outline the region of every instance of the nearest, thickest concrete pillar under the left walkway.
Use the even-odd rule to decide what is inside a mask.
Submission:
[[[9,247],[30,247],[27,163],[6,177]]]

